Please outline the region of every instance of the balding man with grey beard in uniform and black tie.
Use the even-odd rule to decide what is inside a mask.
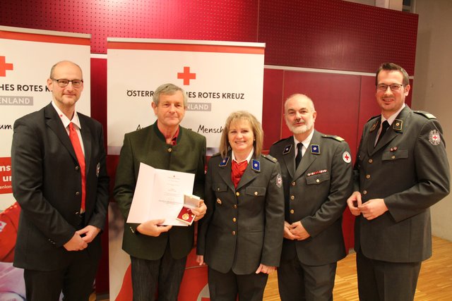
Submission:
[[[342,214],[352,191],[350,148],[314,130],[314,103],[304,94],[284,105],[294,134],[270,154],[283,173],[285,228],[278,268],[281,300],[333,300],[338,260],[345,257]]]

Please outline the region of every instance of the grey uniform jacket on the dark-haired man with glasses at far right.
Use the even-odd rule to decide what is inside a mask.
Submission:
[[[420,262],[432,255],[429,207],[448,195],[449,165],[441,125],[408,106],[374,147],[379,116],[362,132],[355,190],[362,202],[383,198],[388,211],[368,221],[357,216],[355,249],[386,262]]]

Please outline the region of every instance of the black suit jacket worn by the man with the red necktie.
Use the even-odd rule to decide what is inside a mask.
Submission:
[[[108,176],[102,125],[78,113],[85,148],[85,226],[103,229]],[[20,204],[14,266],[51,271],[71,261],[63,245],[79,226],[81,174],[69,135],[52,104],[14,123],[11,150],[13,195]],[[100,235],[88,244],[100,258]]]

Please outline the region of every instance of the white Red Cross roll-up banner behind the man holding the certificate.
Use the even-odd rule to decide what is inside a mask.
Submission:
[[[119,154],[124,134],[155,122],[153,91],[182,87],[188,106],[181,125],[206,136],[218,151],[227,116],[249,111],[262,121],[265,44],[173,39],[107,39],[108,153]],[[129,255],[121,250],[124,221],[109,207],[110,300],[131,300]],[[206,266],[189,254],[179,300],[208,300]]]

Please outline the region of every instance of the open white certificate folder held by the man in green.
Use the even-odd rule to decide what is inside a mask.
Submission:
[[[194,173],[166,171],[141,163],[127,223],[165,219],[163,225],[188,226],[176,218],[184,205],[184,195],[193,192],[194,180]]]

